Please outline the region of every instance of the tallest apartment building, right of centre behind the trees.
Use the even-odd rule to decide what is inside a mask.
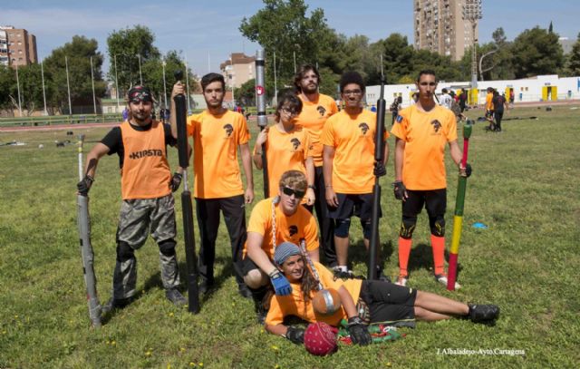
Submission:
[[[413,0],[415,48],[461,59],[474,44],[471,22],[462,19],[464,4],[465,0]]]

